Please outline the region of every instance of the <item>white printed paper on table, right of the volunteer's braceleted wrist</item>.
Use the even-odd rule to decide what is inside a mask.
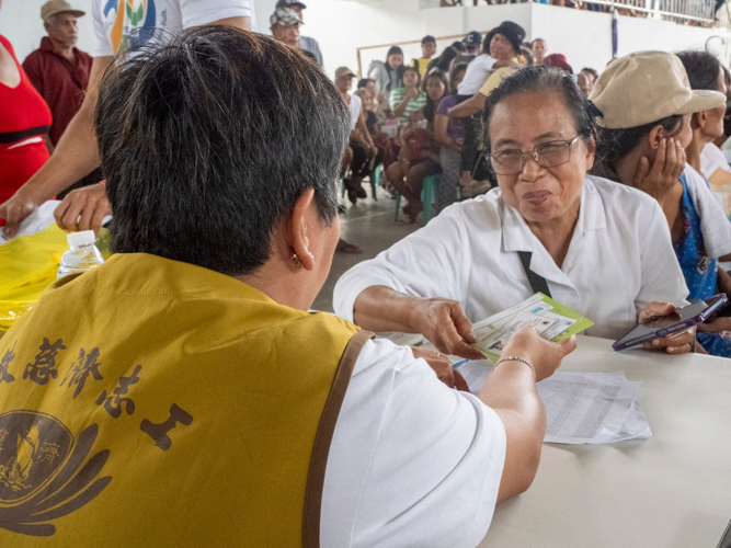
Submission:
[[[559,372],[537,387],[547,414],[544,442],[605,444],[652,435],[637,401],[640,383],[624,372]]]

